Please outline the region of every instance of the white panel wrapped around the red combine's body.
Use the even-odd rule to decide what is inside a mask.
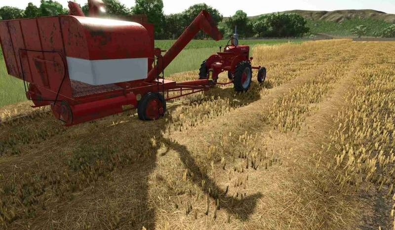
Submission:
[[[91,85],[147,78],[148,58],[86,60],[67,57],[69,76]]]

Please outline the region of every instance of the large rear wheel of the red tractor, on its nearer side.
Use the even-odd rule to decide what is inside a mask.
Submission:
[[[251,85],[251,77],[251,64],[246,61],[239,62],[236,66],[233,80],[235,90],[237,92],[247,91]]]

